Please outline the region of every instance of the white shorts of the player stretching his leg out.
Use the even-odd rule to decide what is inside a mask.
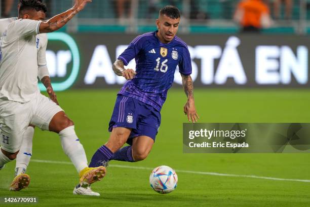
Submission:
[[[41,93],[26,103],[0,99],[1,148],[11,153],[17,152],[29,124],[49,130],[52,118],[60,111],[63,110]]]

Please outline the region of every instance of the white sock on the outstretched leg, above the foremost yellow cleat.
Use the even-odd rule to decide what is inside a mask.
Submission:
[[[74,126],[69,126],[59,132],[61,146],[64,153],[70,158],[76,170],[80,172],[87,165],[87,158],[78,136],[74,131]]]

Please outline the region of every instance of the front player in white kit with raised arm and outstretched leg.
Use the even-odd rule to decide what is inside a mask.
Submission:
[[[90,0],[76,0],[68,11],[47,21],[46,7],[35,0],[21,0],[19,19],[10,23],[0,42],[0,168],[16,158],[29,124],[59,133],[64,152],[80,174],[80,183],[88,187],[100,180],[105,168],[89,168],[83,146],[74,132],[73,122],[63,110],[37,87],[40,55],[36,34],[61,28]],[[39,65],[39,67],[38,67]],[[44,83],[48,88],[51,83]],[[55,97],[56,98],[56,97]],[[56,100],[57,102],[57,100]],[[25,182],[29,177],[25,176]],[[23,187],[22,182],[20,188]]]

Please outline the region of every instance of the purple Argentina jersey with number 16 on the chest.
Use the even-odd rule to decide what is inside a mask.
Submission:
[[[125,65],[135,58],[137,73],[118,94],[136,98],[161,111],[177,65],[181,74],[190,75],[191,60],[187,45],[180,38],[164,44],[156,33],[138,36],[118,57]]]

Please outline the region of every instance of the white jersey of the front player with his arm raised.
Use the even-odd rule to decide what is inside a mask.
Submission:
[[[40,92],[37,86],[40,40],[36,37],[40,23],[18,19],[3,32],[0,42],[0,98],[28,102]]]

